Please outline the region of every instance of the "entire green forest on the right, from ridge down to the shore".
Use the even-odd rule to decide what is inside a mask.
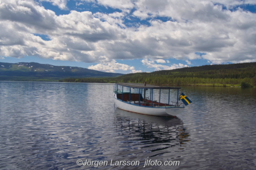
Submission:
[[[256,86],[256,62],[204,65],[173,70],[139,72],[112,78],[68,78],[59,82],[144,83],[174,86]]]

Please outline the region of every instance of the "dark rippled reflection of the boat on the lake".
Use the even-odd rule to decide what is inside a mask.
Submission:
[[[189,134],[179,118],[144,115],[116,108],[114,124],[118,135],[123,137],[123,144],[150,152],[148,157],[172,152],[172,147],[182,149],[189,141]]]

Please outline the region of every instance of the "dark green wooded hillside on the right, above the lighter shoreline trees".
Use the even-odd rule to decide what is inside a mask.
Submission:
[[[203,65],[195,67],[184,67],[172,70],[160,70],[154,72],[139,72],[135,74],[126,74],[120,78],[141,77],[157,77],[166,76],[168,78],[231,78],[243,79],[253,78],[256,75],[256,62],[238,63],[238,64],[218,64],[218,65]]]

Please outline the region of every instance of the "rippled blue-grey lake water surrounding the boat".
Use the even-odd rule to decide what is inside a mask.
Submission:
[[[0,89],[0,169],[256,167],[255,88],[182,87],[193,103],[178,118],[115,109],[113,84],[2,81]]]

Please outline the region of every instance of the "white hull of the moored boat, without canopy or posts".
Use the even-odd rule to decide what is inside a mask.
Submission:
[[[135,112],[135,113],[141,113],[141,114],[147,114],[147,115],[155,115],[155,116],[176,116],[183,112],[184,107],[144,107],[144,106],[138,106],[134,104],[130,104],[127,102],[122,102],[116,98],[115,105],[119,109]]]

